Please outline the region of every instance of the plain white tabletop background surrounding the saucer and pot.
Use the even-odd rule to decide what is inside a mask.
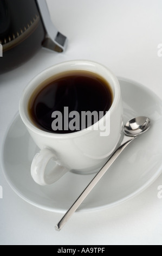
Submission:
[[[0,76],[0,147],[27,83],[38,72],[64,60],[95,60],[117,76],[144,84],[162,99],[162,57],[157,54],[162,43],[161,0],[47,3],[55,26],[68,36],[68,47],[61,54],[42,49],[21,68]],[[159,185],[162,175],[145,192],[122,205],[75,214],[59,233],[54,225],[62,215],[24,202],[11,190],[0,167],[0,244],[162,245]]]

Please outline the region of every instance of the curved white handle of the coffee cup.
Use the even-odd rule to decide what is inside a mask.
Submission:
[[[56,162],[55,167],[47,173],[47,164],[50,160],[57,161],[57,156],[50,149],[44,148],[35,155],[31,163],[31,176],[41,186],[50,185],[59,180],[69,169]]]

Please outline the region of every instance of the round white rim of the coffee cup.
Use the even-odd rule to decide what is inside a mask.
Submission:
[[[119,84],[119,81],[118,81],[118,78],[113,74],[113,72],[111,70],[109,70],[107,68],[107,66],[105,65],[102,65],[98,62],[94,62],[92,60],[81,60],[81,59],[76,59],[76,60],[69,60],[69,61],[66,61],[66,62],[61,62],[59,64],[55,64],[53,66],[50,66],[49,68],[41,71],[39,74],[37,74],[28,84],[27,86],[25,87],[25,89],[23,90],[23,93],[21,95],[21,99],[20,99],[20,102],[19,102],[19,112],[20,112],[20,116],[21,116],[21,119],[23,121],[23,123],[25,124],[25,126],[27,126],[27,128],[41,136],[46,136],[46,137],[52,137],[52,138],[55,138],[55,137],[59,137],[59,138],[73,138],[73,137],[78,137],[80,135],[83,135],[83,133],[88,133],[90,132],[91,130],[89,130],[87,127],[86,129],[83,129],[81,131],[75,131],[75,132],[72,132],[72,133],[51,133],[51,132],[47,132],[47,131],[43,131],[41,129],[39,129],[38,127],[36,127],[30,117],[29,117],[29,114],[28,114],[28,111],[27,111],[27,105],[28,104],[25,104],[25,102],[28,102],[29,99],[30,99],[30,96],[32,95],[32,93],[34,92],[34,90],[36,89],[36,87],[38,87],[40,85],[40,83],[38,83],[38,80],[40,80],[40,78],[43,78],[43,80],[41,80],[42,82],[43,81],[46,81],[49,77],[52,77],[51,75],[50,76],[47,76],[50,71],[53,71],[54,69],[61,67],[61,66],[64,66],[64,65],[78,65],[78,64],[82,64],[82,65],[95,65],[95,66],[100,66],[100,68],[102,69],[105,69],[107,72],[108,72],[108,75],[109,77],[111,77],[111,80],[113,81],[113,86],[114,86],[114,99],[113,99],[113,103],[112,103],[112,106],[111,108],[109,108],[109,113],[111,114],[115,107],[118,106],[118,102],[120,101],[120,97],[121,97],[121,90],[120,90],[120,84]],[[82,70],[85,70],[85,69],[82,69]],[[61,73],[61,71],[60,71]],[[57,74],[59,74],[57,72]],[[100,73],[98,72],[98,74],[100,75]],[[46,78],[45,78],[46,77]],[[42,83],[41,82],[41,83]],[[34,84],[36,84],[36,86],[34,87]],[[112,88],[112,86],[111,86]],[[27,95],[30,95],[29,97],[27,97]],[[94,129],[94,127],[96,125],[99,125],[99,122],[101,121],[104,121],[107,117],[107,115],[109,113],[106,113],[103,118],[101,118],[98,122],[96,122],[95,124],[93,124],[92,126],[92,130]],[[104,119],[104,120],[103,120]]]

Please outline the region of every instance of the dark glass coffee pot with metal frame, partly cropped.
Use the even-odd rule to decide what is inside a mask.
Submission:
[[[42,46],[62,52],[66,43],[50,20],[46,0],[0,0],[0,74],[20,66]]]

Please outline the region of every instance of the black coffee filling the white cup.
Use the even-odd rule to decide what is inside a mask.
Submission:
[[[104,78],[88,71],[71,71],[43,82],[31,95],[28,112],[33,123],[43,131],[72,133],[96,123],[112,101],[111,87]],[[98,118],[92,115],[91,122],[87,118],[83,124],[82,113],[87,112],[98,113]]]

